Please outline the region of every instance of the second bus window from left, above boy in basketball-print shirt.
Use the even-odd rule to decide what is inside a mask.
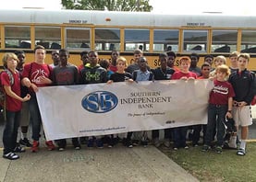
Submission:
[[[35,27],[35,44],[43,45],[45,49],[53,47],[53,43],[61,44],[61,30],[56,27]]]

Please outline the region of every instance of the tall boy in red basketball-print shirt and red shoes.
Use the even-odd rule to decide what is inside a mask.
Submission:
[[[33,144],[31,152],[38,152],[39,138],[42,125],[42,119],[40,110],[37,104],[36,92],[38,92],[41,86],[52,85],[51,74],[53,68],[44,63],[46,51],[43,46],[36,46],[34,49],[35,61],[33,63],[26,64],[22,73],[22,85],[25,85],[30,90],[30,119],[32,125],[32,139]],[[55,145],[52,141],[45,142],[49,151],[55,149]]]

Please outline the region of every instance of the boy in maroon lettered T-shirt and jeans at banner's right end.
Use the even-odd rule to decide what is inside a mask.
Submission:
[[[226,64],[219,65],[216,70],[216,78],[213,80],[213,90],[210,93],[208,107],[208,123],[205,136],[205,144],[202,147],[203,152],[211,149],[213,142],[213,130],[217,131],[217,142],[215,152],[222,154],[222,147],[225,137],[226,118],[232,118],[232,104],[235,92],[233,86],[226,81],[226,77],[230,74],[230,70]]]

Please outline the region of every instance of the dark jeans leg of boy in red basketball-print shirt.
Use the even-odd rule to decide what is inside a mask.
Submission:
[[[29,108],[30,108],[30,119],[32,125],[32,139],[34,141],[39,141],[40,130],[41,130],[41,114],[38,108],[37,99],[35,94],[31,94],[29,100]]]

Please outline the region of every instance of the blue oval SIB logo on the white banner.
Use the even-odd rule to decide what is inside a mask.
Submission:
[[[107,91],[96,91],[82,98],[81,106],[89,112],[104,113],[116,108],[116,95]]]

